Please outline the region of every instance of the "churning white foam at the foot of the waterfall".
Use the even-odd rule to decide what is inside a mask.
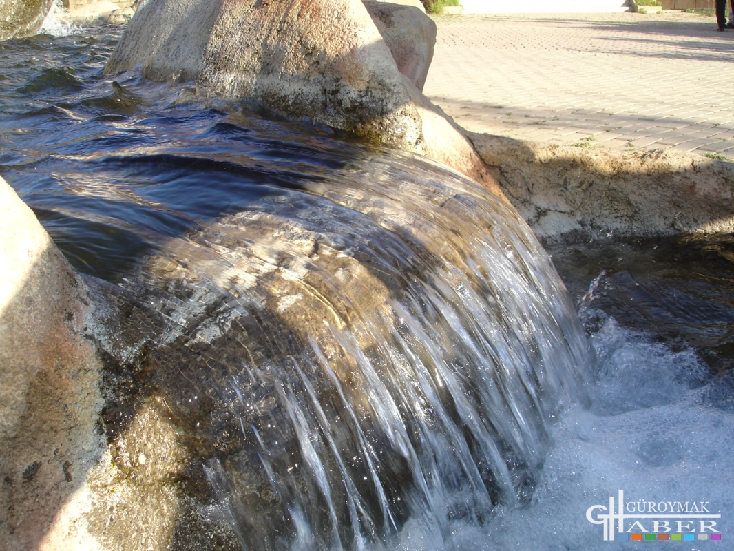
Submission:
[[[455,522],[443,546],[409,524],[397,549],[636,549],[637,541],[603,541],[602,526],[586,520],[589,507],[608,505],[619,489],[625,503],[703,501],[712,514],[722,514],[716,521],[721,544],[657,541],[656,549],[732,548],[726,542],[734,537],[734,414],[708,403],[727,392],[716,388],[727,383],[703,384],[704,368],[692,351],[673,351],[611,318],[592,342],[599,359],[592,407],[572,406],[553,426],[555,443],[531,505],[496,508],[484,527]]]

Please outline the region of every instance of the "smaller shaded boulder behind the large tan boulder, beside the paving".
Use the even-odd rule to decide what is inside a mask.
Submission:
[[[364,4],[398,70],[423,91],[436,44],[436,24],[413,6],[382,1]]]

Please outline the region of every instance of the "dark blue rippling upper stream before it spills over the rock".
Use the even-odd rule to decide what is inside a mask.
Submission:
[[[0,43],[0,175],[82,273],[115,281],[156,243],[344,168],[370,148],[239,106],[101,74],[120,27]]]

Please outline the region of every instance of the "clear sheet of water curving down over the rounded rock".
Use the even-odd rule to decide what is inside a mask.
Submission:
[[[206,164],[198,200],[237,193],[231,164],[222,180],[211,160],[110,162]],[[457,519],[528,503],[589,357],[512,207],[382,151],[286,170],[229,210],[126,276],[118,355],[147,374],[243,549],[374,549],[406,522],[444,541]]]

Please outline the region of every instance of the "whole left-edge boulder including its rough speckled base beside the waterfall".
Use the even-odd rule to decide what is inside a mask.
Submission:
[[[1,178],[0,264],[0,549],[235,550],[182,497],[186,454],[160,399],[115,407],[131,385],[110,354],[119,311]]]

